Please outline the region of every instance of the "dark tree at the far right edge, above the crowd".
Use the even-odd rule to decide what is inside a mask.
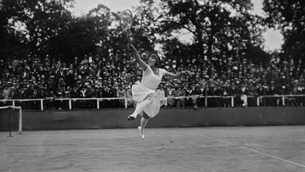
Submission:
[[[281,61],[294,62],[294,76],[305,69],[305,1],[264,0],[263,10],[268,14],[265,22],[278,28],[284,35]]]

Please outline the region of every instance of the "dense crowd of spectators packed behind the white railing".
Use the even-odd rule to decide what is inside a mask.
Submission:
[[[147,56],[143,56],[147,59]],[[28,55],[21,59],[0,61],[0,102],[8,105],[7,99],[45,98],[44,108],[63,109],[67,101],[55,98],[109,98],[100,101],[100,108],[123,108],[130,98],[128,107],[133,107],[131,86],[140,82],[142,71],[133,58],[100,57],[89,53],[75,57],[74,62],[61,62],[46,55]],[[293,61],[268,64],[253,64],[248,59],[234,60],[232,57],[213,59],[162,59],[162,68],[173,73],[191,70],[192,76],[179,79],[165,78],[157,92],[162,106],[186,107],[205,105],[199,96],[234,96],[234,106],[282,105],[282,98],[260,97],[305,94],[305,69],[301,76],[293,76]],[[191,98],[172,98],[192,96]],[[303,106],[305,97],[286,97],[285,105]],[[230,98],[208,98],[208,107],[229,107]],[[38,108],[39,101],[22,103],[23,108]],[[96,108],[96,101],[76,101],[73,108]]]

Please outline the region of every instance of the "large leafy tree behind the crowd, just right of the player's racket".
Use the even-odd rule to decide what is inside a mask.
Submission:
[[[247,57],[249,45],[260,47],[262,44],[264,27],[252,10],[250,0],[162,0],[141,1],[137,13],[141,21],[139,27],[150,34],[152,40],[161,44],[175,41],[177,35],[188,31],[194,40],[189,57],[197,57],[201,62],[207,59],[217,65],[216,59]]]

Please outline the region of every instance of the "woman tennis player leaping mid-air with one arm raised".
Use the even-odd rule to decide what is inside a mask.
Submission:
[[[169,76],[172,78],[179,78],[184,74],[191,74],[191,71],[180,71],[177,74],[172,74],[165,69],[160,69],[161,60],[155,54],[150,55],[148,59],[148,64],[143,62],[138,51],[133,45],[131,45],[133,51],[133,56],[136,58],[139,67],[143,69],[143,77],[138,85],[133,85],[131,92],[133,95],[133,100],[137,102],[136,110],[133,114],[128,116],[128,120],[134,120],[138,114],[142,116],[140,120],[140,126],[138,130],[140,132],[140,137],[144,139],[144,128],[148,120],[155,117],[160,110],[160,99],[156,92],[157,86],[159,86],[163,76]]]

